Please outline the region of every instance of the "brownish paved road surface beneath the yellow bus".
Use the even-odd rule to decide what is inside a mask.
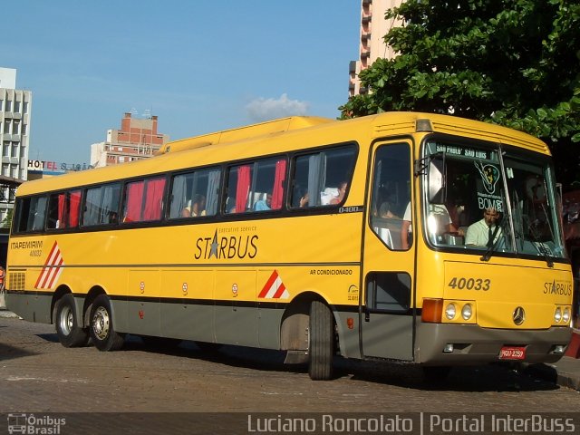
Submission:
[[[152,349],[138,337],[120,352],[66,349],[52,325],[0,318],[0,412],[580,411],[577,391],[504,366],[456,368],[433,385],[417,367],[337,358],[336,378],[313,382],[283,359],[236,346]]]

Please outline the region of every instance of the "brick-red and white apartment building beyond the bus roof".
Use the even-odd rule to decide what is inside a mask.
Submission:
[[[120,130],[107,131],[107,139],[91,145],[91,166],[117,165],[132,160],[150,158],[169,141],[169,135],[158,132],[157,116],[147,113],[144,118],[133,118],[126,112]]]

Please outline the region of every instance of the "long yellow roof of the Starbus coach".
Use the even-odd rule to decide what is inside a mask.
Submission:
[[[232,130],[217,131],[189,139],[175,140],[166,144],[160,150],[160,154],[150,159],[82,170],[48,179],[27,181],[18,188],[16,194],[23,196],[43,191],[70,189],[74,186],[93,185],[116,179],[140,177],[146,174],[160,174],[169,170],[246,159],[260,153],[285,152],[295,150],[296,147],[309,148],[316,145],[353,140],[365,140],[371,143],[375,139],[409,135],[418,131],[433,131],[507,143],[545,155],[550,153],[543,141],[527,133],[507,129],[496,124],[449,115],[384,112],[346,121],[316,117],[290,117]],[[321,135],[317,134],[319,132]],[[279,140],[269,141],[273,136]],[[300,136],[299,141],[295,140],[296,136]],[[267,148],[262,148],[256,152],[256,147],[262,144]],[[214,148],[217,145],[218,147]],[[207,147],[210,146],[211,152],[207,152]]]

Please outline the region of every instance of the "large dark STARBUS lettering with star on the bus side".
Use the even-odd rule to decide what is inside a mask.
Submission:
[[[198,237],[196,241],[196,260],[203,258],[208,260],[212,257],[216,259],[232,258],[254,258],[257,254],[256,234],[247,236],[222,236],[218,237],[218,230],[214,237]]]

